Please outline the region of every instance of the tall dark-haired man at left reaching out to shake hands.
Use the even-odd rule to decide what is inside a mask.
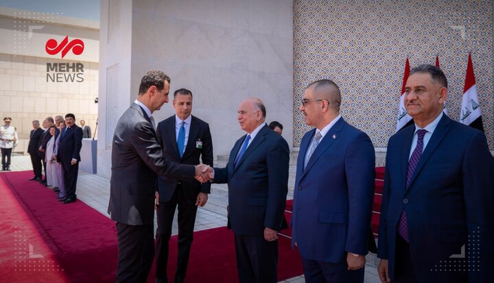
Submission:
[[[209,179],[209,166],[168,161],[156,141],[152,113],[168,102],[169,82],[162,71],[148,71],[137,100],[115,127],[108,213],[117,227],[117,282],[146,282],[148,278],[154,258],[156,174],[182,180],[194,175]]]

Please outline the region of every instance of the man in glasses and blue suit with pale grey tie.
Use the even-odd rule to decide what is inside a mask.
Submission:
[[[305,282],[364,282],[375,152],[368,135],[343,120],[340,104],[338,85],[318,80],[300,106],[314,127],[298,153],[291,223]]]

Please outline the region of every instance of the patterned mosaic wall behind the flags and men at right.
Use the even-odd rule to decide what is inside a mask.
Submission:
[[[294,1],[294,146],[305,126],[304,87],[330,78],[342,91],[342,116],[386,147],[395,132],[405,58],[440,67],[447,111],[458,120],[469,52],[484,128],[494,150],[493,3],[462,1]]]

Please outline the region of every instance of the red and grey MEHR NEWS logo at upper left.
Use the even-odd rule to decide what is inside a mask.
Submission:
[[[79,38],[69,41],[69,36],[60,41],[50,38],[45,50],[47,54],[61,54],[63,59],[70,51],[74,55],[84,52],[84,42]],[[47,82],[84,82],[84,65],[82,63],[47,63]]]

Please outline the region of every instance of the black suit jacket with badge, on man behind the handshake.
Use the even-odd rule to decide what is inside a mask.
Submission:
[[[211,140],[211,132],[209,124],[200,120],[198,117],[191,117],[191,125],[189,129],[189,139],[187,139],[187,147],[185,148],[182,158],[178,155],[176,144],[175,130],[175,115],[158,123],[156,128],[156,137],[158,144],[163,147],[163,155],[169,161],[176,163],[198,165],[199,158],[202,156],[202,163],[213,166],[213,141]],[[201,148],[198,148],[198,141],[202,142]],[[166,202],[172,199],[175,192],[178,179],[167,176],[158,176],[158,190],[160,201]],[[209,194],[211,191],[211,183],[200,183],[196,179],[180,180],[183,188],[191,190],[197,196],[199,192]]]

